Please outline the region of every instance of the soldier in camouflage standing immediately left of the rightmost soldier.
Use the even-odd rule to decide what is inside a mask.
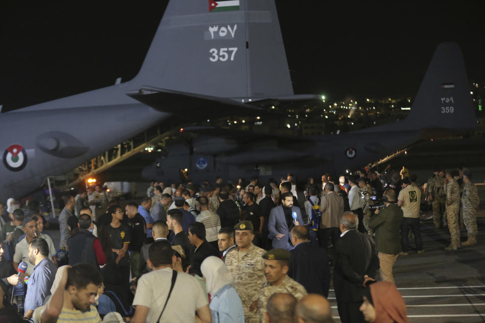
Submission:
[[[458,224],[458,211],[460,208],[460,186],[453,178],[455,171],[446,172],[446,214],[448,229],[450,230],[451,244],[446,250],[460,248],[460,225]]]

